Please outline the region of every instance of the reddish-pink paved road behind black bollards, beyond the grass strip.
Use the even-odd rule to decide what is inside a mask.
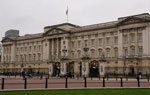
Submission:
[[[23,90],[61,90],[61,89],[127,89],[127,88],[150,88],[150,82],[147,79],[140,80],[140,87],[138,87],[137,79],[123,79],[123,87],[118,78],[105,79],[105,87],[103,87],[102,78],[87,78],[87,87],[84,87],[84,79],[71,79],[68,78],[68,88],[65,88],[65,78],[53,77],[48,79],[48,88],[45,88],[45,78],[32,78],[27,79],[27,89],[24,89],[24,80],[22,78],[6,78],[4,90],[0,91],[23,91]],[[0,87],[2,81],[0,80]]]

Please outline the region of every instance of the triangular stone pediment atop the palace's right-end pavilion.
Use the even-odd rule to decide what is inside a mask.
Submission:
[[[128,17],[118,23],[118,25],[127,25],[127,24],[134,24],[134,23],[140,23],[145,22],[145,19],[137,18],[137,17]]]

